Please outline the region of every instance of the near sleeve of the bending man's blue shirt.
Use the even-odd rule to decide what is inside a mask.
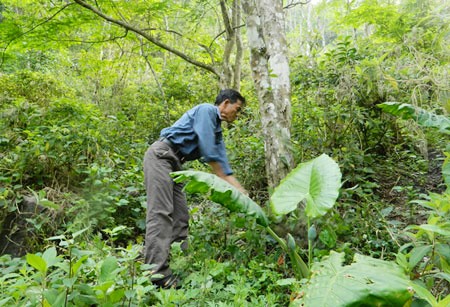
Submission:
[[[195,116],[194,131],[198,137],[200,154],[206,162],[219,162],[225,175],[233,174],[228,163],[222,129],[214,106],[199,108]]]

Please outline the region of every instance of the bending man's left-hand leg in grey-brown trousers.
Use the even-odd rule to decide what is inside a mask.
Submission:
[[[172,171],[169,155],[167,146],[155,143],[144,157],[147,191],[145,263],[154,264],[153,274],[162,274],[164,277],[172,274],[169,252],[172,243],[174,182],[169,175]]]

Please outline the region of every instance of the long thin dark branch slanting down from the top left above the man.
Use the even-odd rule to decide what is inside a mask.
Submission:
[[[176,50],[172,47],[170,47],[169,45],[164,44],[163,42],[161,42],[160,40],[156,39],[155,37],[153,37],[152,35],[144,32],[141,29],[135,28],[132,25],[123,22],[121,20],[117,20],[112,18],[111,16],[108,16],[106,14],[104,14],[102,11],[98,10],[97,8],[93,7],[92,5],[84,2],[83,0],[73,0],[74,2],[76,2],[77,4],[79,4],[80,6],[92,11],[94,14],[98,15],[99,17],[105,19],[106,21],[113,23],[115,25],[121,26],[125,29],[128,29],[131,32],[134,32],[142,37],[144,37],[146,40],[152,42],[153,44],[155,44],[156,46],[169,51],[170,53],[173,53],[175,55],[177,55],[178,57],[182,58],[183,60],[185,60],[188,63],[191,63],[192,65],[195,65],[197,67],[203,68],[213,74],[215,74],[216,76],[219,76],[219,73],[216,71],[216,69],[214,67],[212,67],[211,65],[207,65],[205,63],[199,62],[191,57],[189,57],[188,55],[182,53],[179,50]]]

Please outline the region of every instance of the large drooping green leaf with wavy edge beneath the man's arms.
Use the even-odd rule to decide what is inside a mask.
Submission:
[[[269,220],[261,207],[225,180],[200,171],[179,171],[171,175],[175,182],[187,182],[184,187],[186,192],[207,194],[210,200],[230,211],[254,216],[261,226],[269,225]]]

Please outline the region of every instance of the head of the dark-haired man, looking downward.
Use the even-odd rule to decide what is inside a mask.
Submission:
[[[219,107],[222,120],[231,123],[244,107],[245,98],[238,91],[225,89],[221,90],[219,95],[217,95],[214,104]]]

